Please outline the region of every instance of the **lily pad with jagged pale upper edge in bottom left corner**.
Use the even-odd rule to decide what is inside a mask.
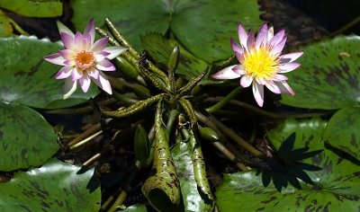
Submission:
[[[90,190],[94,170],[50,160],[41,168],[15,172],[0,184],[1,211],[98,211],[100,187]]]

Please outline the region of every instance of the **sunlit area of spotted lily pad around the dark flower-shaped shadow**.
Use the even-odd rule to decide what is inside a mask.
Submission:
[[[320,118],[296,121],[285,120],[268,132],[275,148],[295,132],[294,147],[308,146],[310,151],[324,148],[320,136],[326,122]],[[225,174],[217,188],[220,211],[356,211],[360,200],[359,169],[328,149],[304,162],[322,167],[319,172],[308,172],[314,185],[302,183],[302,190],[288,186],[282,192],[273,183],[263,186],[256,172]]]

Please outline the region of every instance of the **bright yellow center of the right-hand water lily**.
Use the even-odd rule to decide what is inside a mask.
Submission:
[[[279,65],[277,57],[270,54],[266,48],[250,49],[245,53],[243,64],[247,74],[264,80],[274,77]]]

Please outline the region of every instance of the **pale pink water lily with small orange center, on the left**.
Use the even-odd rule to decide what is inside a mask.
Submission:
[[[63,23],[58,22],[58,31],[66,49],[44,57],[50,63],[63,66],[56,79],[66,79],[64,97],[67,99],[76,91],[77,82],[86,93],[91,81],[106,93],[112,94],[112,87],[103,71],[114,71],[116,68],[109,61],[126,50],[124,47],[106,47],[108,37],[96,40],[94,20],[91,19],[84,33],[74,34]]]

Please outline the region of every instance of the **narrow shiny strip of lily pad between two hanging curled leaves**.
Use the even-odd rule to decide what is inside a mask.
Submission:
[[[171,150],[180,181],[185,211],[212,211],[211,204],[205,203],[197,189],[191,154],[192,150],[189,143],[180,142]]]

